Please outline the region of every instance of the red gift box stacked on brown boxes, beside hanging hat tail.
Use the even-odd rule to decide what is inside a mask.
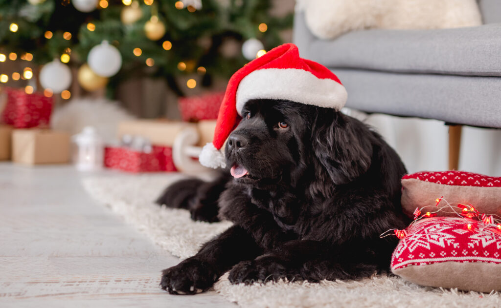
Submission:
[[[216,119],[219,113],[224,92],[210,93],[200,96],[181,97],[178,105],[183,121]]]

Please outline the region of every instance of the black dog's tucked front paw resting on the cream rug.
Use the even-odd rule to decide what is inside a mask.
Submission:
[[[288,278],[286,265],[275,257],[262,257],[253,261],[241,261],[233,266],[228,279],[231,283],[252,284],[254,282],[277,281]]]

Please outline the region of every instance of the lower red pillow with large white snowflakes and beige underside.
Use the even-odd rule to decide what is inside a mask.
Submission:
[[[501,290],[501,231],[460,217],[424,218],[393,252],[391,271],[427,286]]]

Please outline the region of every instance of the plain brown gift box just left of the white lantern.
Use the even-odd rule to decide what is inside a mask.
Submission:
[[[51,129],[14,129],[12,160],[26,164],[68,163],[70,134]]]

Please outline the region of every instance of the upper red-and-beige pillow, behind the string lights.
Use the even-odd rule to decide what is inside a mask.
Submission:
[[[402,208],[409,217],[416,207],[435,207],[435,199],[441,196],[450,203],[471,203],[482,213],[501,215],[501,177],[463,171],[421,171],[402,177]],[[438,204],[442,206],[447,203]],[[437,214],[455,215],[450,211]]]

